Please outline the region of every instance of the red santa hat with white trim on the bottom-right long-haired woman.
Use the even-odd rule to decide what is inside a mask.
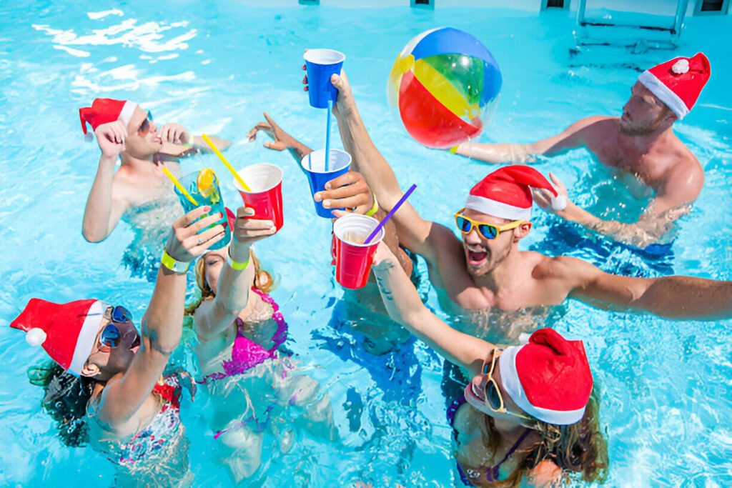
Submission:
[[[592,373],[582,341],[539,329],[529,342],[506,348],[498,359],[501,382],[521,410],[556,425],[575,424],[592,392]]]

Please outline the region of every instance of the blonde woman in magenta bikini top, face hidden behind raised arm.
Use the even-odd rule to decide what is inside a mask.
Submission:
[[[244,207],[236,218],[230,214],[231,244],[198,260],[201,300],[189,308],[198,339],[199,383],[209,392],[203,411],[220,459],[236,483],[261,465],[265,430],[277,443],[267,451],[291,448],[290,417],[313,435],[337,437],[328,395],[313,378],[294,369],[283,347],[287,323],[268,294],[272,277],[261,269],[253,250],[255,241],[275,233],[275,224],[245,218],[252,215]]]

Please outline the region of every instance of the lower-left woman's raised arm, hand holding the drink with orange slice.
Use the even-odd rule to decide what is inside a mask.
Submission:
[[[199,207],[173,224],[165,244],[165,252],[173,259],[190,263],[195,256],[223,238],[221,225],[196,234],[219,219],[218,215],[212,215],[191,223],[206,211],[210,211],[210,207]],[[134,418],[163,374],[171,353],[178,347],[183,327],[185,290],[185,273],[179,274],[161,265],[152,299],[141,321],[140,349],[124,375],[111,378],[102,391],[100,420],[112,428]]]

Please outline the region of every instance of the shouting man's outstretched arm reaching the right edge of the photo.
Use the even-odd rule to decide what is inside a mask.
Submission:
[[[588,304],[624,311],[651,312],[674,320],[732,317],[732,282],[685,276],[623,277],[576,258],[556,258],[552,274],[569,296]]]

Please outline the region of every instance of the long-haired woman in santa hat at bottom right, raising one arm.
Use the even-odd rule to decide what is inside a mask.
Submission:
[[[539,329],[498,348],[433,315],[383,244],[373,270],[389,315],[474,377],[447,411],[464,484],[550,487],[571,473],[604,481],[607,445],[581,341]]]

